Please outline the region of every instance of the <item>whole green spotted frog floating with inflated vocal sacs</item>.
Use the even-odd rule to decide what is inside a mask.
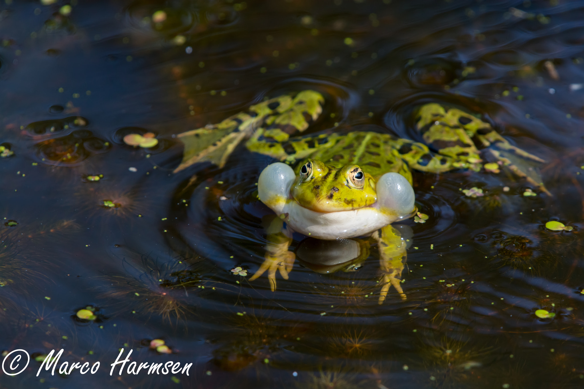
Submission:
[[[380,256],[378,303],[391,286],[405,300],[401,279],[409,239],[392,223],[416,214],[412,170],[481,171],[495,163],[551,195],[534,169],[545,160],[513,146],[477,114],[423,104],[414,120],[423,142],[375,131],[302,134],[321,116],[324,104],[317,90],[283,94],[177,135],[185,151],[175,173],[201,162],[223,168],[241,143],[278,161],[258,178],[258,198],[274,217],[266,226],[265,261],[249,279],[267,271],[272,291],[276,272],[288,279],[293,269],[296,255],[289,248],[297,232],[323,240],[370,239]]]

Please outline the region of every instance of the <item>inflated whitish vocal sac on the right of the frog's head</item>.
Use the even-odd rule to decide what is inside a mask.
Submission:
[[[399,173],[385,173],[377,181],[376,207],[381,212],[392,213],[398,218],[411,215],[415,194],[409,181]]]

